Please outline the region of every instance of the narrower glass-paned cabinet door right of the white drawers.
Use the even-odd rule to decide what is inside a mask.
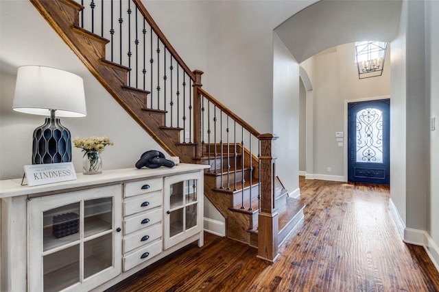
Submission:
[[[165,178],[165,249],[200,232],[200,180],[197,175]]]

